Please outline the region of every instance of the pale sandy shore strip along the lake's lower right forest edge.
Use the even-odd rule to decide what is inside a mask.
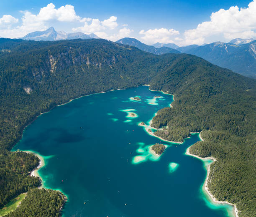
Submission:
[[[197,155],[195,155],[195,154],[190,154],[190,153],[189,153],[189,148],[190,148],[190,146],[189,146],[189,147],[187,148],[187,150],[186,150],[186,154],[189,155],[189,156],[193,156],[193,157],[195,157],[195,158],[201,159],[202,161],[211,159],[211,160],[212,160],[212,163],[215,162],[215,161],[217,161],[214,157],[199,157],[199,156],[197,156]],[[211,164],[212,164],[212,163],[211,163]],[[233,214],[234,214],[235,217],[238,217],[238,209],[237,209],[237,207],[236,207],[236,204],[231,204],[231,203],[226,202],[226,201],[218,201],[218,200],[211,194],[211,192],[210,192],[210,190],[209,190],[209,188],[208,188],[208,185],[207,185],[208,179],[209,179],[209,175],[210,175],[210,164],[207,166],[207,177],[206,177],[206,179],[205,179],[205,182],[204,182],[204,185],[203,185],[203,189],[204,189],[205,192],[210,196],[211,201],[214,202],[214,203],[218,203],[218,204],[229,204],[229,205],[233,206],[233,207],[234,207],[234,213],[233,213]]]

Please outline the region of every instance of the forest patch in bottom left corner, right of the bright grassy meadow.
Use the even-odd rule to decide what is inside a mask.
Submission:
[[[30,189],[20,206],[5,217],[58,217],[66,200],[64,194],[51,189]]]

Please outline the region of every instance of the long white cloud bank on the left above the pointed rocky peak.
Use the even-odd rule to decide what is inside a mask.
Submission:
[[[101,30],[113,30],[118,26],[117,17],[111,16],[108,19],[100,21],[93,18],[81,18],[74,10],[74,6],[65,5],[56,8],[53,3],[41,8],[38,14],[33,14],[29,11],[20,11],[23,13],[21,22],[11,15],[4,15],[0,18],[1,36],[7,38],[20,38],[24,35],[34,32],[46,30],[53,22],[70,23],[83,26],[73,28],[73,31],[82,31],[83,33],[95,33]],[[11,26],[16,24],[14,27]],[[11,28],[12,27],[12,28]]]

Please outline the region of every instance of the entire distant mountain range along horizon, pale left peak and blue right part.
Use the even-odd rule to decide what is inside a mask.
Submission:
[[[57,32],[53,27],[25,35],[23,40],[72,40],[99,38],[95,34]],[[256,78],[256,40],[235,38],[229,43],[214,42],[205,45],[179,47],[174,43],[155,43],[146,45],[135,38],[122,38],[116,43],[130,45],[156,55],[165,53],[187,53],[204,58],[210,63],[231,69],[243,76]]]

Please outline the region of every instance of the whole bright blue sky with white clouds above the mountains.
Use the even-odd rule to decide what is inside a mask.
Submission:
[[[212,14],[213,13],[213,14]],[[8,0],[0,2],[0,36],[46,30],[95,33],[118,40],[178,45],[256,38],[256,0]]]

